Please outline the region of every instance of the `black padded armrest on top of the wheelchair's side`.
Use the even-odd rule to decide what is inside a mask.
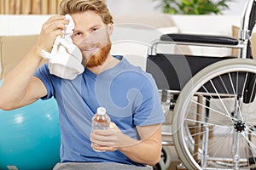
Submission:
[[[164,34],[160,37],[160,40],[172,41],[172,42],[195,42],[195,43],[211,43],[211,44],[224,44],[224,45],[238,44],[238,40],[234,37],[195,35],[195,34]]]

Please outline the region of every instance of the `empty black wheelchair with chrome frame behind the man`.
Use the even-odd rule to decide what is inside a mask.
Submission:
[[[184,169],[256,169],[256,62],[250,43],[255,20],[256,1],[247,0],[238,39],[165,34],[148,48],[146,71],[171,119],[162,144],[175,146]],[[161,44],[236,48],[239,54],[161,54]]]

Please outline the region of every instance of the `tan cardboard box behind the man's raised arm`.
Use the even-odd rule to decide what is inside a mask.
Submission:
[[[38,35],[0,37],[0,64],[2,70],[0,79],[15,68],[15,65],[26,56],[37,40]]]

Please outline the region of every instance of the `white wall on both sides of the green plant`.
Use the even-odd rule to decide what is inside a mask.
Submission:
[[[223,11],[223,13],[240,15],[246,2],[247,0],[234,0],[234,2],[229,3],[230,9]],[[160,13],[160,8],[156,8],[159,3],[158,0],[107,0],[107,3],[113,15]]]

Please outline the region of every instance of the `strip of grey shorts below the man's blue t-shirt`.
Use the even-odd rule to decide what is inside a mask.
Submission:
[[[53,170],[153,170],[152,167],[137,167],[132,165],[101,162],[101,163],[58,163]]]

